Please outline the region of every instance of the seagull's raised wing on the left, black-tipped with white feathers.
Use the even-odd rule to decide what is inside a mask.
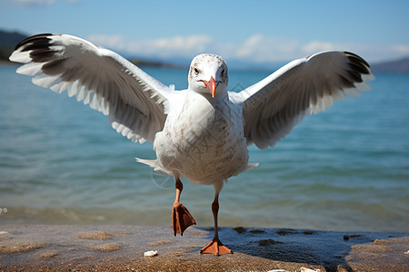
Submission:
[[[108,115],[114,129],[132,141],[153,142],[162,131],[173,89],[110,50],[66,34],[39,34],[17,44],[10,60],[17,73],[64,92]]]

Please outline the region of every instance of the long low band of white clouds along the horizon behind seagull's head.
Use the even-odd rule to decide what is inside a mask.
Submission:
[[[217,53],[225,59],[250,63],[291,61],[327,50],[350,51],[370,62],[379,62],[409,54],[409,44],[375,45],[310,41],[301,44],[295,39],[284,39],[254,34],[242,43],[216,43],[206,34],[175,35],[158,39],[129,39],[123,35],[92,34],[88,39],[122,53],[146,57],[183,57],[191,59],[198,53]]]

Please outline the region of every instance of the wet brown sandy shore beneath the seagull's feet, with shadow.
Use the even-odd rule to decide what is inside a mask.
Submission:
[[[0,271],[409,271],[408,234],[221,228],[234,254],[201,255],[212,237],[211,228],[175,238],[163,227],[0,225]]]

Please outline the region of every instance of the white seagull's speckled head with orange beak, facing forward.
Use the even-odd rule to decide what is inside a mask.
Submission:
[[[190,64],[189,89],[194,92],[210,94],[214,98],[227,92],[228,82],[227,63],[218,55],[199,54]]]

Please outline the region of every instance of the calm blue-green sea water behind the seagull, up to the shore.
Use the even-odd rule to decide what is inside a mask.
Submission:
[[[175,184],[139,164],[152,144],[107,117],[0,66],[0,224],[171,226]],[[187,87],[187,70],[145,68]],[[240,91],[271,72],[230,71]],[[379,73],[373,90],[307,116],[220,196],[221,227],[409,232],[409,75]],[[185,180],[181,201],[213,226],[214,189]]]

